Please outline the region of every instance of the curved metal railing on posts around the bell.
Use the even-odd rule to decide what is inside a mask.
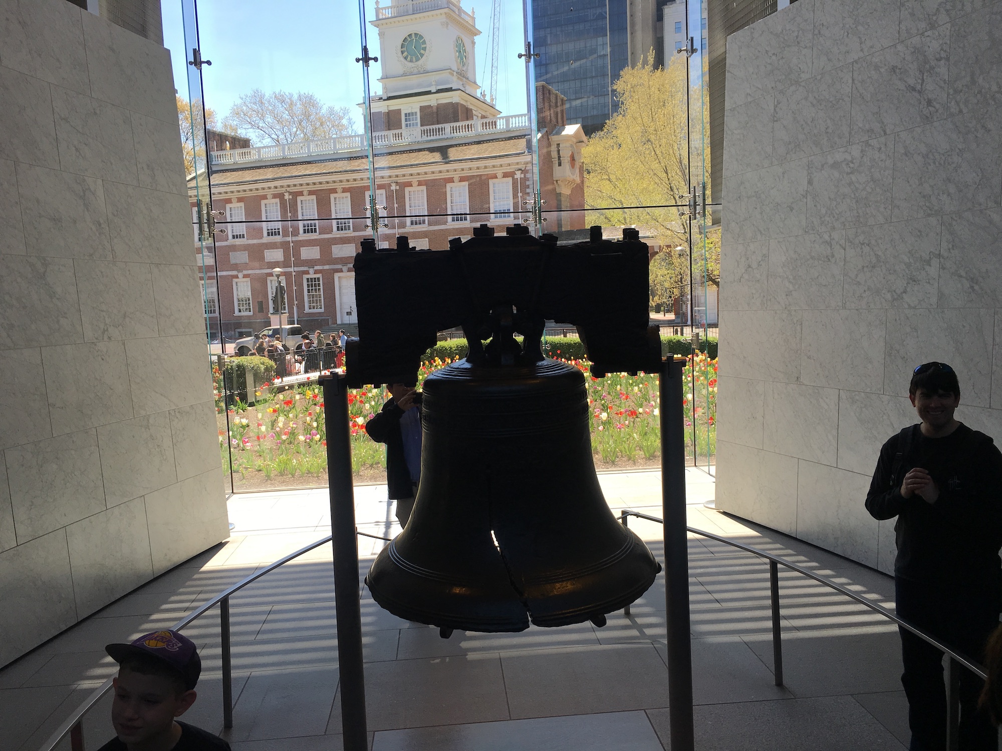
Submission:
[[[648,522],[654,522],[656,524],[664,524],[664,520],[658,519],[657,517],[652,517],[647,514],[641,514],[640,512],[623,510],[619,513],[619,521],[625,527],[627,526],[627,520],[629,517],[635,517],[637,519],[644,519]],[[875,613],[879,613],[885,618],[894,621],[896,624],[902,628],[911,631],[917,637],[927,642],[936,649],[942,651],[950,658],[950,675],[947,681],[947,693],[948,693],[948,718],[950,720],[950,734],[951,738],[956,738],[957,729],[959,727],[960,714],[958,711],[959,707],[959,693],[958,693],[958,678],[959,673],[957,672],[960,667],[964,667],[970,670],[975,675],[981,678],[986,678],[984,669],[978,665],[976,662],[969,660],[967,657],[960,655],[953,650],[951,650],[946,645],[940,643],[935,638],[929,636],[923,632],[917,626],[910,624],[903,618],[898,617],[887,608],[878,605],[870,600],[867,600],[862,595],[859,595],[852,590],[843,587],[840,584],[832,582],[825,579],[819,574],[806,569],[803,566],[799,566],[791,561],[787,561],[780,556],[777,556],[768,551],[761,550],[760,548],[755,548],[750,545],[744,545],[742,543],[735,542],[725,537],[719,535],[714,535],[711,532],[706,532],[705,530],[698,530],[694,527],[686,527],[686,532],[692,535],[698,535],[699,537],[704,537],[708,540],[714,540],[718,543],[723,543],[724,545],[729,545],[732,548],[737,548],[744,551],[745,553],[750,553],[760,558],[764,558],[769,561],[769,574],[770,574],[770,595],[772,600],[772,610],[773,610],[773,672],[775,675],[776,685],[783,685],[783,640],[780,631],[780,579],[779,579],[779,567],[785,566],[798,574],[803,574],[804,576],[815,580],[826,587],[829,587],[837,592],[845,595],[846,597],[856,601],[860,605],[864,605]],[[356,531],[357,535],[362,537],[373,538],[376,540],[387,540],[390,538],[381,537],[379,535],[370,535],[365,532]],[[230,657],[230,644],[229,644],[229,598],[239,592],[241,589],[246,587],[248,584],[261,579],[266,574],[270,574],[281,566],[294,561],[305,553],[319,548],[322,545],[330,543],[332,539],[331,535],[318,540],[315,543],[311,543],[305,548],[301,548],[295,553],[290,553],[285,558],[281,558],[275,563],[267,566],[261,571],[255,572],[250,576],[241,579],[239,582],[223,590],[215,597],[206,601],[200,605],[197,609],[184,616],[181,620],[175,623],[170,628],[173,630],[181,630],[185,626],[188,626],[196,619],[205,615],[208,611],[214,608],[216,605],[219,606],[219,635],[222,641],[222,724],[223,727],[231,728],[233,726],[233,708],[232,708],[232,663]],[[624,609],[626,615],[629,615],[629,606]],[[84,702],[73,711],[73,713],[59,726],[59,728],[49,737],[49,739],[42,744],[39,751],[53,751],[55,747],[64,739],[66,736],[70,738],[70,748],[72,751],[83,751],[83,717],[91,710],[91,708],[100,700],[102,696],[111,688],[111,678],[108,678],[101,686],[94,690],[94,692],[87,697]],[[951,746],[948,746],[950,748]]]

